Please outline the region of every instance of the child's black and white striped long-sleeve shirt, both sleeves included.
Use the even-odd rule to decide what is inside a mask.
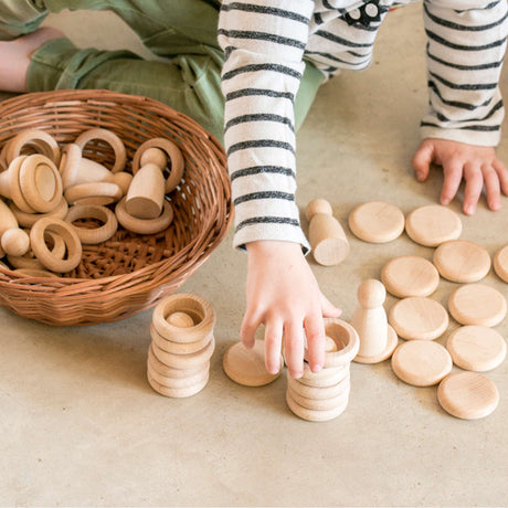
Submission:
[[[234,245],[308,243],[295,202],[294,98],[309,60],[327,77],[371,63],[392,6],[414,0],[223,0],[224,142],[235,205]],[[421,129],[496,146],[507,0],[424,0],[430,107]]]

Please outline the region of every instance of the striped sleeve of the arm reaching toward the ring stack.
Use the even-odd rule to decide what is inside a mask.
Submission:
[[[308,250],[295,202],[294,99],[310,0],[224,0],[224,144],[235,207],[234,245],[285,240]]]

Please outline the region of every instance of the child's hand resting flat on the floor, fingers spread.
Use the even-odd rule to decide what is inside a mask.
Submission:
[[[484,184],[490,210],[499,210],[501,207],[501,190],[508,195],[508,170],[496,157],[493,147],[426,138],[416,149],[412,162],[419,181],[427,178],[431,163],[443,167],[442,204],[448,204],[452,201],[464,178],[466,188],[463,210],[467,215],[475,213]]]

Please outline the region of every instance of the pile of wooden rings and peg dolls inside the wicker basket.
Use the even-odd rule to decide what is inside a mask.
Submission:
[[[110,169],[86,157],[93,151],[87,148],[91,141],[99,150],[104,145],[113,149]],[[107,129],[85,130],[62,148],[39,129],[10,139],[0,152],[0,257],[7,255],[25,275],[54,276],[80,264],[83,244],[109,240],[118,222],[138,234],[167,229],[173,212],[166,193],[183,174],[180,149],[168,139],[154,138],[136,151],[134,177],[124,170],[126,162],[124,142]],[[83,220],[85,226],[76,223]]]

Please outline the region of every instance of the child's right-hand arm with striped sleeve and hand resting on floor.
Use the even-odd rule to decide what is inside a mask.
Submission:
[[[441,165],[441,202],[447,204],[466,181],[464,212],[474,213],[485,184],[488,205],[500,207],[508,173],[494,147],[504,107],[499,77],[508,34],[506,0],[425,0],[428,38],[430,109],[422,120],[423,142],[413,158],[420,181],[430,163]]]

